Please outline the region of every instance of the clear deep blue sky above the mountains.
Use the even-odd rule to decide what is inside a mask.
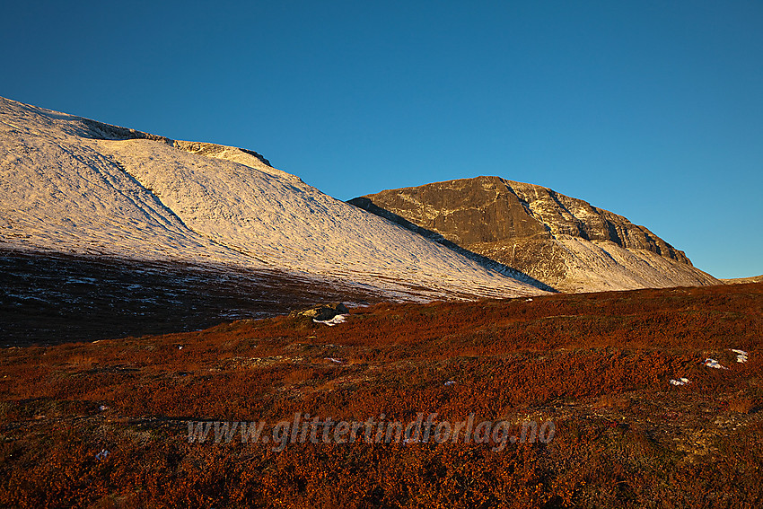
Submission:
[[[763,273],[763,3],[6,2],[0,95],[334,197],[499,175]]]

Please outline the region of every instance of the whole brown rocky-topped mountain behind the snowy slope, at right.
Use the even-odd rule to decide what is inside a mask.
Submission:
[[[721,284],[644,226],[532,184],[477,177],[349,203],[560,291]]]

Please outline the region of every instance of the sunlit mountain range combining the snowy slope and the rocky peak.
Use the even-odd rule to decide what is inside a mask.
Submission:
[[[0,250],[230,268],[263,294],[285,277],[364,300],[720,284],[645,227],[539,186],[479,177],[347,204],[250,150],[3,98]]]

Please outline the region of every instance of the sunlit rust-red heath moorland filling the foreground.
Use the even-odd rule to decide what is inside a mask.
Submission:
[[[382,303],[336,327],[282,316],[6,348],[0,505],[756,507],[761,338],[763,284],[750,284]],[[671,385],[680,377],[689,383]],[[187,436],[189,420],[275,424],[296,412],[403,422],[473,412],[550,419],[556,434],[501,452],[363,441],[278,452],[240,435]]]

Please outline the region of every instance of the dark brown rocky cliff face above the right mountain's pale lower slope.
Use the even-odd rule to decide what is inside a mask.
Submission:
[[[499,177],[435,182],[385,190],[366,198],[461,246],[549,239],[560,234],[612,241],[624,248],[651,250],[690,263],[682,251],[621,215],[551,189]],[[356,204],[355,200],[350,203]]]

